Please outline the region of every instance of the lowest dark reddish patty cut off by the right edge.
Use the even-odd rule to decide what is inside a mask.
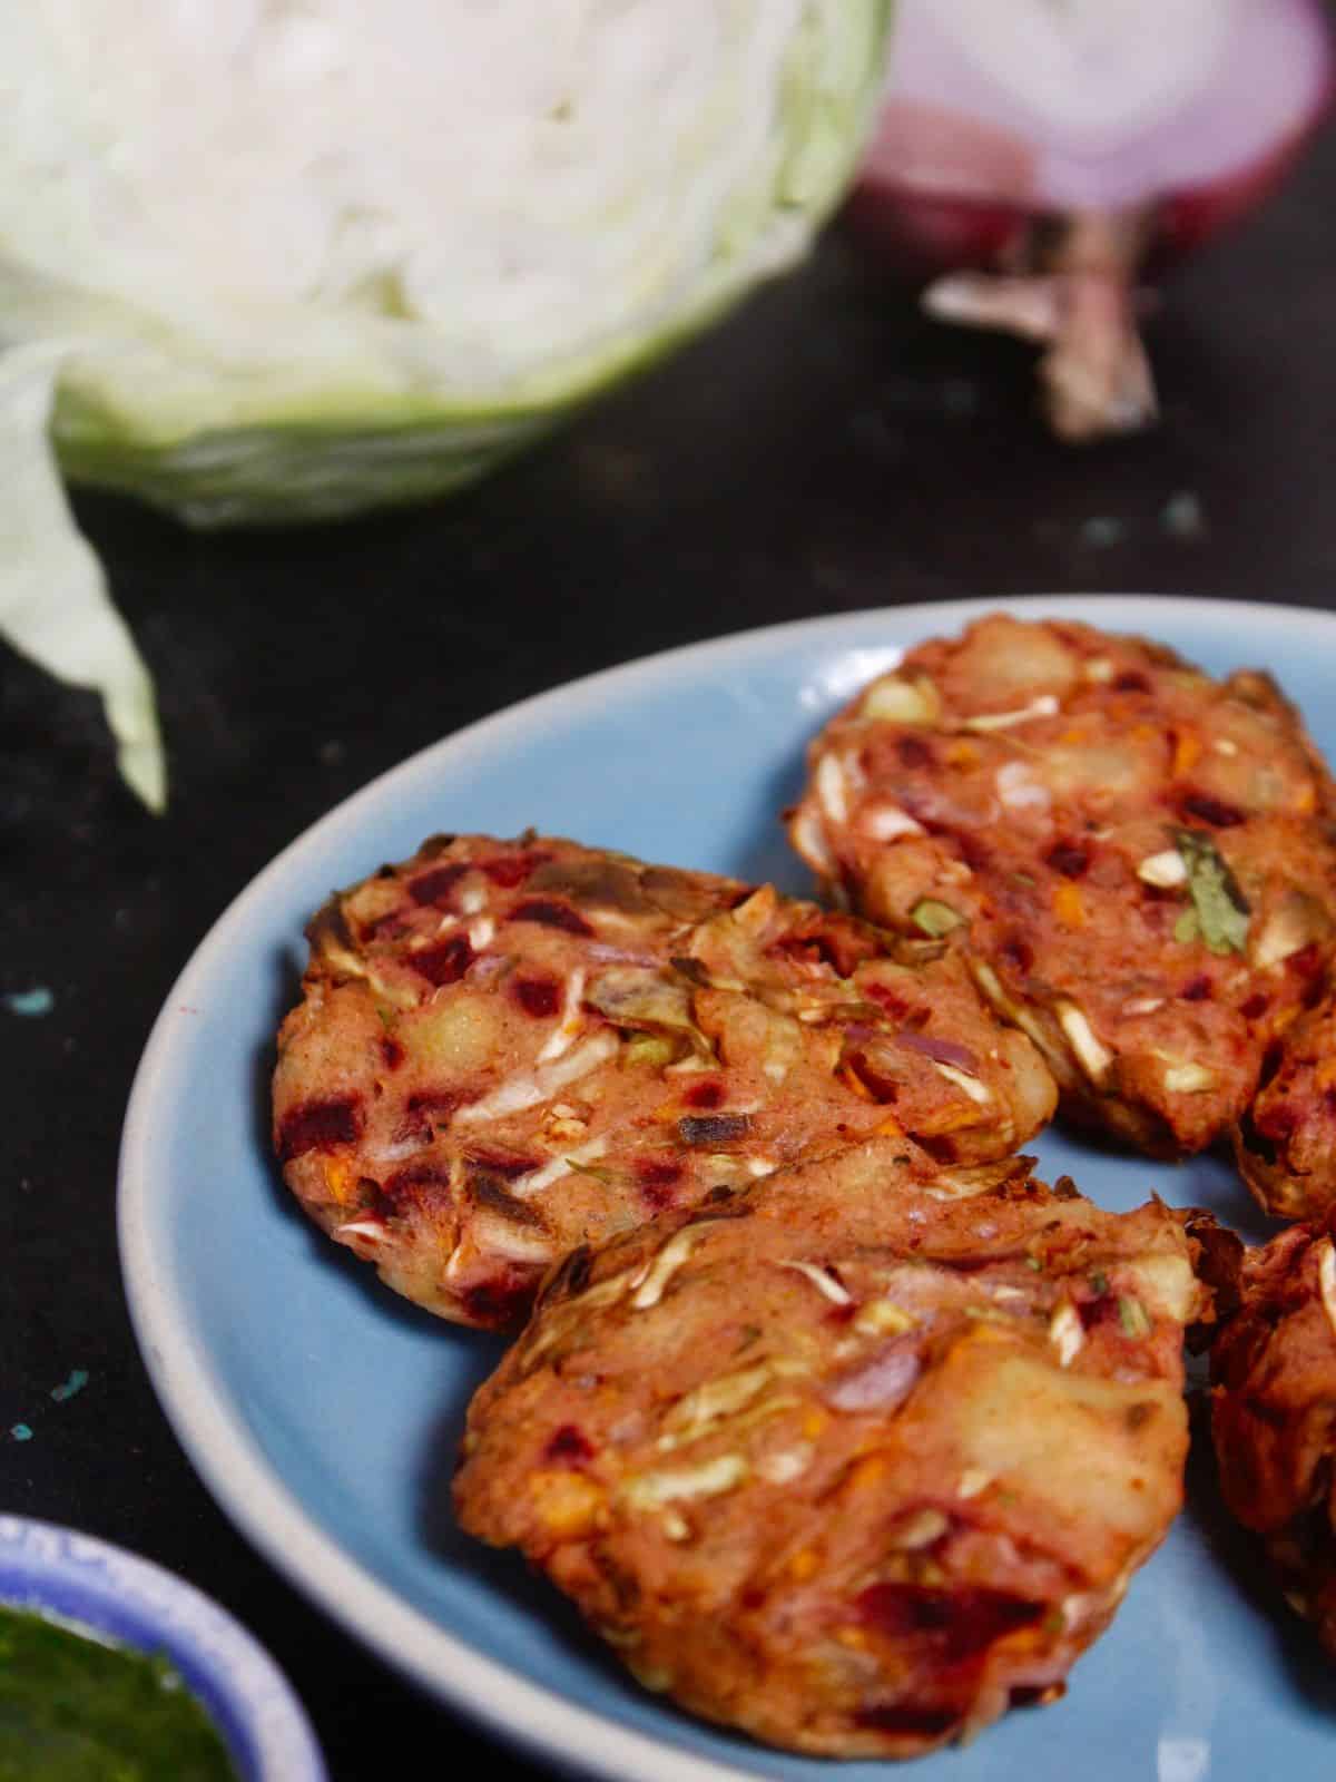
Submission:
[[[1291,1226],[1238,1267],[1211,1349],[1220,1486],[1261,1534],[1290,1604],[1336,1659],[1336,1215]]]

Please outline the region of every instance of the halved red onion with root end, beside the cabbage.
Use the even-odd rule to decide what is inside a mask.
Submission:
[[[932,315],[1046,346],[1058,435],[1128,431],[1138,280],[1259,203],[1331,94],[1320,0],[900,0],[846,221]]]

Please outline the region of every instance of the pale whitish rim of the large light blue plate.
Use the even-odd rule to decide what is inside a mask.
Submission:
[[[876,620],[885,620],[898,633],[910,629],[932,636],[996,611],[1022,618],[1063,617],[1122,631],[1145,624],[1151,634],[1154,624],[1147,622],[1156,617],[1188,622],[1215,618],[1240,633],[1250,633],[1258,625],[1286,633],[1327,629],[1336,642],[1336,613],[1325,608],[1215,595],[1072,592],[916,601],[819,613],[631,658],[533,693],[447,732],[306,825],[214,920],[153,1021],[135,1069],[121,1135],[118,1244],[135,1342],[167,1424],[216,1504],[294,1590],[428,1695],[479,1721],[502,1743],[518,1745],[536,1757],[559,1759],[606,1782],[625,1782],[627,1775],[639,1782],[755,1782],[757,1777],[752,1768],[737,1770],[668,1745],[654,1734],[622,1727],[597,1709],[582,1707],[556,1689],[531,1682],[502,1661],[486,1657],[465,1636],[411,1607],[319,1527],[224,1397],[207,1390],[212,1372],[208,1356],[196,1342],[189,1306],[169,1278],[166,1262],[155,1255],[151,1235],[155,1087],[166,1071],[178,1025],[189,1012],[192,985],[212,975],[214,962],[226,955],[233,934],[246,928],[251,911],[264,907],[271,886],[283,879],[294,859],[317,852],[342,830],[354,830],[371,809],[392,800],[401,786],[429,773],[445,754],[458,764],[460,756],[486,752],[497,740],[524,738],[527,731],[542,727],[552,709],[570,715],[574,702],[579,713],[623,683],[673,679],[689,672],[695,663],[748,650],[764,652],[789,642],[837,642],[841,633],[866,631]],[[1242,647],[1245,638],[1240,634],[1238,642]]]

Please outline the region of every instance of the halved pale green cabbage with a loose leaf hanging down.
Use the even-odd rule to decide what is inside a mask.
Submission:
[[[889,9],[0,7],[0,634],[102,690],[160,807],[57,460],[201,526],[476,478],[802,255]]]

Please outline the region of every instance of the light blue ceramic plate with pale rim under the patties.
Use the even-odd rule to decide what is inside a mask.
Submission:
[[[919,638],[996,602],[907,606],[754,631],[616,668],[447,738],[333,811],[237,898],[153,1030],[125,1132],[121,1253],[139,1340],[223,1508],[351,1632],[552,1761],[616,1782],[828,1778],[645,1695],[513,1556],[465,1540],[449,1477],[493,1338],[415,1312],[294,1212],[267,1146],[271,1044],[322,898],[435,830],[525,825],[807,889],[777,811],[803,745]],[[1170,599],[1012,601],[1147,631],[1211,670],[1272,668],[1336,757],[1336,618]],[[1158,1189],[1259,1235],[1231,1171],[1124,1160],[1046,1135],[1112,1208]],[[1017,1713],[916,1777],[1258,1782],[1329,1777],[1336,1688],[1222,1522],[1210,1461],[1067,1698]],[[841,1782],[882,1782],[853,1762]]]

